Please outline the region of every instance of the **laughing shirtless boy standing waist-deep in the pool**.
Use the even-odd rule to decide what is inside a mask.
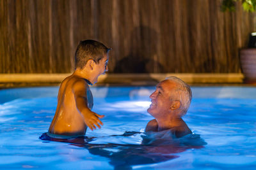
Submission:
[[[93,96],[88,84],[93,85],[108,71],[109,50],[98,41],[80,41],[75,54],[76,69],[60,85],[58,105],[48,134],[84,136],[87,127],[93,131],[103,125],[100,118],[104,115],[91,111]]]

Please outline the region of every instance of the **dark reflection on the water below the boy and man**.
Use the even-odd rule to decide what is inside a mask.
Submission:
[[[100,138],[115,138],[140,136],[141,144],[118,144],[102,143],[95,144]],[[188,134],[182,138],[175,138],[170,131],[162,132],[125,132],[122,135],[102,136],[102,137],[79,137],[70,139],[51,138],[47,133],[42,134],[40,139],[45,141],[59,141],[70,143],[70,145],[87,149],[93,155],[106,157],[115,169],[132,169],[131,166],[141,164],[154,164],[172,160],[177,157],[175,153],[184,152],[191,148],[203,148],[206,145],[204,139],[198,134]]]

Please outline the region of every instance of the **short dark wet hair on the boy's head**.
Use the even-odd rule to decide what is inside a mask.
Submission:
[[[89,59],[94,60],[98,64],[109,50],[111,48],[107,48],[102,43],[92,39],[80,41],[75,53],[75,69],[83,69]]]

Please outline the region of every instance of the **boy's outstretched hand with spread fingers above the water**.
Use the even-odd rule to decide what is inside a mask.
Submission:
[[[96,126],[99,127],[100,125],[103,125],[103,123],[100,121],[99,118],[103,118],[104,115],[99,115],[97,113],[94,113],[93,111],[87,112],[84,116],[84,122],[85,124],[93,131],[93,129],[96,129]]]

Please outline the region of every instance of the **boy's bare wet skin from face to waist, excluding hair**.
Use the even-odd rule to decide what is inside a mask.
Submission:
[[[94,113],[93,96],[88,86],[97,82],[98,77],[108,71],[108,55],[97,64],[88,60],[83,69],[76,69],[71,76],[62,81],[58,94],[56,113],[49,127],[49,133],[66,136],[83,136],[87,127],[100,128],[100,118],[104,115]]]

